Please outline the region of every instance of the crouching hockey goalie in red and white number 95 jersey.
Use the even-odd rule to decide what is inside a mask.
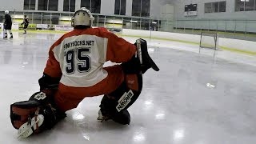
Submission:
[[[104,95],[98,120],[130,124],[127,109],[142,91],[142,74],[150,68],[158,71],[158,66],[150,58],[145,40],[131,44],[105,28],[92,28],[93,21],[86,8],[74,13],[74,30],[50,47],[38,80],[40,90],[29,100],[10,105],[10,119],[19,138],[50,130],[66,118],[67,110],[98,95]],[[107,61],[120,64],[103,67]]]

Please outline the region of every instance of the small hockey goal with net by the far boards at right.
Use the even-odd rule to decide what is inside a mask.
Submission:
[[[217,32],[201,32],[200,47],[217,50],[218,34]]]

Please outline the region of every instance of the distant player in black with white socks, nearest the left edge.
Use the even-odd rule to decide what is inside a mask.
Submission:
[[[5,11],[5,22],[3,23],[3,26],[4,26],[4,35],[3,35],[3,38],[7,38],[7,31],[9,32],[10,34],[10,38],[14,38],[13,37],[13,33],[11,32],[11,26],[13,25],[13,22],[11,20],[11,17],[10,17],[10,14],[9,14],[9,11],[6,10]]]

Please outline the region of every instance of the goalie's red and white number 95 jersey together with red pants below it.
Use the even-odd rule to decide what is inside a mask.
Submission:
[[[107,61],[127,62],[136,46],[105,28],[74,29],[50,47],[44,70],[61,78],[54,99],[61,110],[78,106],[83,98],[109,94],[124,81],[122,67],[103,68]]]

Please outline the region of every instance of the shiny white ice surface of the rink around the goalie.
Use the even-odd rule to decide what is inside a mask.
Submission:
[[[130,126],[98,122],[102,96],[86,98],[52,130],[17,139],[10,104],[38,91],[48,49],[62,34],[14,33],[0,39],[0,143],[255,144],[256,58],[148,40],[160,71],[143,75]],[[126,38],[134,42],[136,38]],[[107,66],[107,65],[106,65]]]

